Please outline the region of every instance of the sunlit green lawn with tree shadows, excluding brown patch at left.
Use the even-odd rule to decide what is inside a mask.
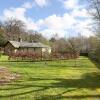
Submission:
[[[74,60],[9,62],[0,67],[21,75],[21,79],[0,86],[0,100],[100,100],[99,64],[86,57]]]

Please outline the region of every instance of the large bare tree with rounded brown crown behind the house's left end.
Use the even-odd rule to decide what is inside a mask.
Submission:
[[[8,39],[14,40],[18,38],[24,30],[24,23],[17,19],[7,19],[4,23],[4,29]]]

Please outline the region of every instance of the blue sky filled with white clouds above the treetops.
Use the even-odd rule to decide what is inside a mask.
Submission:
[[[91,19],[85,0],[2,0],[0,19],[16,18],[28,30],[36,30],[46,37],[90,36]]]

